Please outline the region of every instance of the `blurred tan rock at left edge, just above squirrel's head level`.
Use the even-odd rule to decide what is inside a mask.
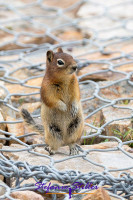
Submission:
[[[7,29],[12,29],[12,30],[17,30],[17,32],[21,31],[28,31],[29,33],[31,32],[32,34],[35,33],[37,36],[29,36],[28,34],[26,35],[21,35],[18,38],[18,42],[14,42],[14,36],[12,34],[8,34],[7,32],[1,31],[0,30],[0,38],[2,38],[2,42],[0,45],[0,50],[13,50],[13,49],[22,49],[23,44],[42,44],[42,43],[54,43],[54,40],[49,37],[49,36],[44,36],[45,31],[41,28],[40,30],[37,30],[33,28],[33,26],[29,26],[29,23],[10,23],[10,26],[7,27]],[[3,36],[3,37],[2,37]]]

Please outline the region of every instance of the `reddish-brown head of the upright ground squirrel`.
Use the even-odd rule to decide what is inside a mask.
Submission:
[[[49,50],[46,54],[47,71],[59,75],[71,75],[77,69],[77,63],[73,57],[64,53],[62,48],[58,48],[57,52]]]

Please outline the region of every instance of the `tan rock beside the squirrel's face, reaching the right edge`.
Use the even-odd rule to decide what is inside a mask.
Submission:
[[[118,56],[118,55],[116,55],[116,56]],[[84,59],[86,58],[87,60],[89,60],[89,59],[95,60],[96,58],[97,59],[99,58],[102,60],[102,59],[109,59],[111,57],[114,57],[114,54],[102,55],[100,53],[95,53],[92,55],[89,54],[89,55],[83,56],[83,58]],[[111,71],[104,72],[104,70],[107,70],[107,69],[108,69],[108,66],[106,64],[93,63],[93,64],[89,64],[86,67],[83,67],[82,69],[80,69],[78,71],[78,76],[79,76],[80,81],[94,80],[94,81],[103,81],[103,82],[115,81],[115,80],[122,79],[125,77],[124,75],[122,75],[120,73],[115,73],[115,72],[111,72]],[[123,64],[123,65],[120,65],[119,67],[117,67],[116,69],[119,71],[129,73],[129,72],[132,72],[132,64]],[[102,70],[103,72],[95,73],[100,70]],[[88,75],[88,73],[90,73],[90,74]],[[125,83],[125,81],[123,81],[123,82]],[[123,84],[123,82],[119,83],[119,84]]]

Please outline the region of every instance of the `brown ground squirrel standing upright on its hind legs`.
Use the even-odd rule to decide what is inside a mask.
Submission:
[[[77,63],[61,48],[46,54],[46,72],[41,85],[41,119],[45,130],[45,149],[50,154],[61,146],[68,145],[70,155],[78,154],[76,143],[80,140],[84,118],[80,102],[80,90],[75,74]],[[24,120],[35,129],[30,113],[21,111]]]

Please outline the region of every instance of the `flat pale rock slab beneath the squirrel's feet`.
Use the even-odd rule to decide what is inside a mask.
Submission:
[[[101,143],[97,145],[82,145],[82,149],[89,150],[89,149],[110,149],[117,147],[118,144],[114,142],[107,142],[107,143]],[[127,146],[127,145],[126,145]],[[19,144],[11,144],[10,147],[3,146],[3,149],[23,149],[25,148],[22,145]],[[42,153],[42,155],[48,155],[48,152],[44,150],[43,147],[36,147],[35,152]],[[23,152],[23,153],[22,153]],[[49,165],[50,160],[47,157],[42,156],[36,156],[34,154],[29,153],[28,151],[20,151],[20,152],[3,152],[3,154],[10,158],[11,160],[19,160],[22,162],[28,162],[30,165]],[[53,156],[54,160],[60,160],[68,157],[69,155],[69,149],[68,147],[61,147],[58,152]],[[111,151],[111,152],[95,152],[92,151],[87,155],[87,158],[90,160],[102,164],[106,166],[109,169],[120,169],[120,168],[128,168],[133,164],[133,161],[131,158],[123,154],[121,151]],[[109,159],[108,159],[109,158]],[[81,165],[82,163],[82,165]],[[54,165],[57,170],[64,171],[64,170],[77,170],[81,171],[82,173],[89,173],[89,172],[96,172],[101,173],[103,171],[102,167],[93,165],[86,160],[84,160],[82,157],[77,157],[74,159],[68,159],[64,162],[55,163]],[[132,169],[127,170],[127,172],[130,172],[133,174]],[[118,176],[119,171],[111,172],[114,176]]]

